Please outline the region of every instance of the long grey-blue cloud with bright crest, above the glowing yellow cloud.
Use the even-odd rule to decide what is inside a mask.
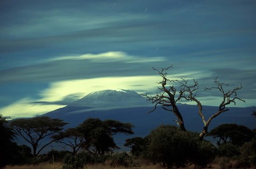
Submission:
[[[0,83],[150,75],[150,65],[161,64],[164,61],[164,57],[147,58],[131,56],[124,52],[56,57],[41,64],[2,70]]]

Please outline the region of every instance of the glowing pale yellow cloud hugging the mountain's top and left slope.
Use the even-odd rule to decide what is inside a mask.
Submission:
[[[49,88],[39,93],[40,99],[23,98],[8,106],[1,108],[4,116],[31,117],[44,114],[54,109],[63,107],[75,99],[84,97],[93,91],[106,89],[130,89],[146,91],[156,88],[155,80],[158,76],[138,76],[138,77],[108,77],[95,79],[67,80],[53,82]],[[134,85],[137,84],[137,85]],[[155,85],[154,85],[155,84]]]

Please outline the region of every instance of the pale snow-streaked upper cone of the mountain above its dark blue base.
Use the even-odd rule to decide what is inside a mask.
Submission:
[[[91,92],[85,97],[48,114],[73,114],[102,111],[116,108],[151,106],[146,99],[133,90],[102,90]]]

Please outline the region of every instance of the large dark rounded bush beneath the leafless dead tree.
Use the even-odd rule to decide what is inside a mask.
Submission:
[[[171,125],[161,125],[149,135],[148,157],[163,167],[206,166],[214,157],[213,145],[199,141],[197,133],[184,132]]]

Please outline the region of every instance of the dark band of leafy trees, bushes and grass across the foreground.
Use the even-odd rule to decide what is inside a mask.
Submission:
[[[33,122],[35,120],[35,122]],[[47,123],[46,123],[47,121]],[[28,123],[25,123],[28,122]],[[53,125],[58,124],[58,125]],[[1,167],[4,168],[250,168],[256,165],[256,133],[243,125],[222,124],[207,136],[219,138],[218,145],[198,138],[198,133],[177,126],[161,125],[145,138],[127,139],[118,149],[114,134],[132,134],[133,125],[115,120],[87,119],[75,128],[62,131],[58,119],[38,117],[7,121],[0,115]],[[37,128],[35,127],[37,126]],[[15,132],[16,131],[16,132]],[[30,141],[50,136],[71,151],[52,149],[47,154],[31,154],[28,146],[18,146],[14,138],[27,133]],[[38,138],[33,134],[37,134]],[[41,136],[41,137],[40,137]],[[33,146],[33,145],[31,145]]]

